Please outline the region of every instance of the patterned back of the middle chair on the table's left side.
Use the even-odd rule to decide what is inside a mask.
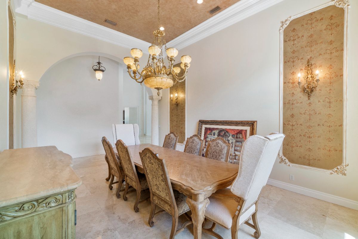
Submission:
[[[125,173],[126,182],[132,186],[139,186],[137,171],[127,145],[121,139],[118,139],[116,142],[116,148]]]

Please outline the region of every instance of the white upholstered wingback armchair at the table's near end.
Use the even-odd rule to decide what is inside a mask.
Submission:
[[[280,133],[248,137],[242,147],[239,173],[231,187],[218,190],[209,197],[205,218],[213,221],[213,225],[209,229],[203,228],[203,232],[222,239],[214,232],[218,224],[226,229],[231,228],[231,238],[237,239],[239,227],[244,223],[255,229],[256,238],[260,237],[258,199],[284,138],[285,135]],[[253,224],[248,222],[250,217]]]

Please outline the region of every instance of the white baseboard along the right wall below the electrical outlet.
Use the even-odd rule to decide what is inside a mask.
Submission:
[[[313,197],[315,199],[320,199],[326,202],[331,202],[340,206],[348,207],[354,210],[358,210],[358,201],[346,199],[344,197],[335,196],[329,193],[316,191],[313,189],[293,185],[291,183],[285,183],[278,180],[270,179],[267,180],[267,184],[275,187],[279,187],[291,192],[300,193],[305,196]]]

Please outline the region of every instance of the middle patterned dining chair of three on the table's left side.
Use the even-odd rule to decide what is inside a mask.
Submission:
[[[139,173],[136,171],[131,153],[127,145],[121,139],[117,140],[116,148],[117,148],[119,159],[122,163],[122,167],[125,175],[125,181],[126,181],[126,188],[123,193],[123,200],[127,201],[126,195],[129,187],[132,186],[133,188],[135,188],[137,192],[137,197],[134,203],[134,211],[138,212],[139,211],[138,204],[148,200],[145,199],[139,201],[142,190],[148,188],[148,182],[143,173]]]

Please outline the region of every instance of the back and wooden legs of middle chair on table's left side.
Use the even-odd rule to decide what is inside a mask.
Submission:
[[[123,147],[123,148],[121,148],[121,147]],[[123,167],[123,171],[124,171],[124,175],[125,175],[125,181],[126,181],[126,187],[125,187],[125,190],[123,193],[123,200],[127,201],[126,195],[128,193],[129,187],[132,186],[137,192],[137,197],[136,197],[136,200],[134,203],[134,211],[138,212],[139,211],[138,204],[140,204],[142,202],[146,202],[149,199],[149,197],[148,197],[145,200],[139,201],[142,190],[145,190],[148,187],[142,188],[142,186],[139,182],[138,174],[137,174],[133,159],[132,159],[132,155],[129,152],[127,145],[121,139],[118,139],[116,142],[116,148],[117,148],[119,159],[122,163],[122,167]],[[124,149],[124,152],[122,152],[123,151],[122,149]],[[125,162],[125,160],[127,160],[128,162]],[[132,166],[132,168],[131,168],[133,170],[132,175],[130,175],[130,172],[127,172],[127,167],[126,167],[127,163],[130,163]],[[134,176],[134,177],[132,177],[132,176]]]

